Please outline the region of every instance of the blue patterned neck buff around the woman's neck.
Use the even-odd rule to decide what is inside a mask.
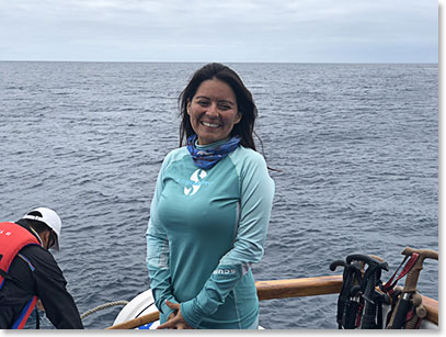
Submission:
[[[218,162],[218,160],[228,156],[233,151],[240,143],[240,137],[235,136],[229,141],[218,144],[209,148],[196,148],[197,136],[192,135],[187,137],[187,149],[194,159],[194,164],[202,169],[210,169]]]

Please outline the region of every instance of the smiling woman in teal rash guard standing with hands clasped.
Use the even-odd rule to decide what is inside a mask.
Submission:
[[[220,64],[194,74],[180,106],[180,148],[162,164],[147,231],[159,328],[258,328],[251,265],[263,256],[274,182],[255,151],[256,106]]]

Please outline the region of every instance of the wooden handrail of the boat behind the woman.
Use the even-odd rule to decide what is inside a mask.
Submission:
[[[305,279],[272,280],[255,282],[259,300],[315,296],[339,293],[342,289],[342,276],[316,277]],[[423,296],[427,311],[426,318],[438,325],[438,301]],[[107,327],[107,329],[133,329],[159,319],[159,312],[134,318]]]

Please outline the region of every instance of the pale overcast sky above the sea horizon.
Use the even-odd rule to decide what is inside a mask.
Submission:
[[[437,63],[434,0],[0,0],[0,60]]]

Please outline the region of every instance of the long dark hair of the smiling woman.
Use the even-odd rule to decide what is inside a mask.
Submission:
[[[180,116],[182,119],[180,125],[180,147],[183,146],[183,141],[194,134],[194,130],[192,128],[191,120],[187,114],[187,103],[192,101],[199,85],[202,85],[202,82],[205,80],[213,78],[219,79],[220,81],[227,83],[236,94],[237,109],[241,114],[241,120],[239,123],[233,125],[230,135],[240,136],[240,144],[242,146],[256,150],[252,135],[254,134],[259,138],[254,132],[258,108],[255,106],[252,94],[247,87],[244,87],[241,78],[236,71],[217,63],[207,64],[196,70],[188,85],[186,88],[184,88],[179,97]]]

